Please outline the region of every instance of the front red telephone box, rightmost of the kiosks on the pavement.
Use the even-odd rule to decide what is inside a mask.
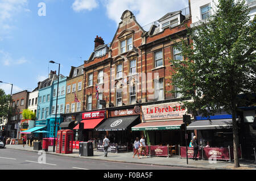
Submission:
[[[71,129],[65,129],[61,136],[61,153],[73,153],[73,134]]]

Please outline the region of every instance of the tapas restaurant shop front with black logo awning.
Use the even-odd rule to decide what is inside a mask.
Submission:
[[[96,127],[96,131],[105,132],[112,145],[112,152],[129,151],[133,149],[133,142],[139,133],[131,132],[131,127],[141,122],[141,108],[126,106],[108,111],[108,119]],[[102,137],[103,140],[104,137]],[[101,140],[101,142],[102,142]],[[102,145],[98,150],[103,151]]]

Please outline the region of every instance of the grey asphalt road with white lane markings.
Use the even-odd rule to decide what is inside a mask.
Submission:
[[[45,161],[45,162],[44,162]],[[37,152],[0,149],[0,170],[188,170],[184,167],[100,161]]]

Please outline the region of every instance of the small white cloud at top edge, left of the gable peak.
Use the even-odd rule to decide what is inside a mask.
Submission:
[[[75,0],[72,4],[72,9],[76,12],[82,10],[92,10],[98,7],[98,2],[96,0]]]

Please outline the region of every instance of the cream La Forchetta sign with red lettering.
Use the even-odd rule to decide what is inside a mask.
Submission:
[[[184,114],[187,114],[187,108],[178,102],[142,106],[142,120],[145,121],[182,120]]]

